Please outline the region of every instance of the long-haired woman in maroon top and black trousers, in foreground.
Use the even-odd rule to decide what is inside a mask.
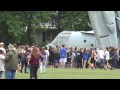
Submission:
[[[37,79],[37,71],[39,68],[39,55],[37,53],[37,48],[33,47],[30,64],[30,79]]]

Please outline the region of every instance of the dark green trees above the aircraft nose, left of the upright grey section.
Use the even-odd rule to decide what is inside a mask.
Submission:
[[[63,30],[89,30],[87,11],[55,11],[53,21],[58,32]]]

